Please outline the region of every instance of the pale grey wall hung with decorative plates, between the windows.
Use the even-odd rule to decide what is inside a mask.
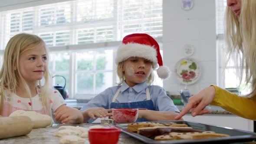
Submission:
[[[164,65],[172,71],[171,78],[164,80],[164,88],[171,94],[184,88],[174,74],[174,66],[186,57],[183,52],[186,44],[195,46],[190,58],[201,67],[200,79],[188,85],[191,94],[217,84],[215,15],[215,0],[194,0],[194,7],[188,11],[181,9],[181,0],[163,0]]]

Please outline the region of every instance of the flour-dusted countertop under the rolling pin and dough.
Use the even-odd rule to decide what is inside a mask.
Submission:
[[[30,132],[30,134],[27,134],[26,136],[12,137],[12,138],[0,140],[0,144],[59,144],[61,137],[55,137],[53,136],[53,134],[54,132],[58,131],[58,128],[60,126],[63,126],[63,125],[72,125],[72,126],[79,125],[81,127],[88,128],[89,126],[92,126],[95,124],[59,124],[59,125],[56,124],[53,127],[49,127],[49,128],[33,129]],[[85,139],[86,139],[85,144],[89,144],[88,137],[86,137]],[[119,136],[118,144],[144,144],[144,143],[124,133],[121,133]],[[248,142],[243,144],[256,144],[256,143]]]

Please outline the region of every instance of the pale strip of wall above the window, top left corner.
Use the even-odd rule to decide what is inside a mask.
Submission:
[[[0,0],[0,11],[20,9],[23,7],[34,7],[49,3],[58,3],[68,0]]]

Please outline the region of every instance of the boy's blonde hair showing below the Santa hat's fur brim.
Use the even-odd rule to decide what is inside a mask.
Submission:
[[[117,83],[118,85],[121,85],[125,81],[125,72],[122,71],[122,67],[125,65],[125,60],[122,62],[119,62],[117,65],[117,75],[119,77],[119,82]],[[147,84],[151,85],[154,82],[154,72],[151,71],[148,79],[147,79]]]

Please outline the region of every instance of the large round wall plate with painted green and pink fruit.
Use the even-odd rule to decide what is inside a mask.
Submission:
[[[194,84],[200,77],[200,66],[191,58],[179,60],[174,69],[178,80],[186,85]]]

